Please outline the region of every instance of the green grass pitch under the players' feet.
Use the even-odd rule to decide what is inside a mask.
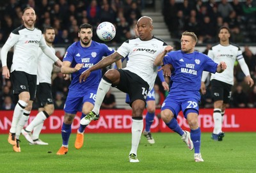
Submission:
[[[256,172],[256,133],[225,133],[222,142],[202,133],[204,162],[196,163],[176,133],[153,133],[156,144],[141,137],[140,163],[129,163],[131,133],[85,133],[84,146],[74,147],[76,134],[70,136],[68,153],[56,155],[61,134],[42,134],[49,146],[31,146],[20,137],[21,153],[0,135],[0,172]]]

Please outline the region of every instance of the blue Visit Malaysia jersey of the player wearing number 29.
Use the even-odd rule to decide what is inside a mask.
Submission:
[[[169,93],[195,92],[199,95],[203,71],[215,73],[218,64],[200,52],[186,54],[181,50],[168,52],[164,56],[164,64],[172,64]]]

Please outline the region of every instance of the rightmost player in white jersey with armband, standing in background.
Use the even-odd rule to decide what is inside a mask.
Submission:
[[[216,63],[220,63],[220,61],[225,61],[227,63],[227,69],[223,71],[223,73],[211,73],[211,90],[214,100],[214,130],[212,132],[212,139],[221,141],[225,136],[221,128],[225,109],[227,103],[230,101],[231,89],[234,85],[234,64],[236,60],[241,66],[241,69],[245,75],[245,80],[250,87],[253,86],[254,81],[250,76],[250,71],[244,61],[241,49],[229,41],[230,29],[228,29],[226,26],[220,27],[218,36],[220,38],[220,43],[217,43],[211,47],[208,52],[208,56],[211,57]],[[207,71],[204,71],[202,74],[202,94],[205,94],[206,92],[204,82],[208,75],[209,72]]]

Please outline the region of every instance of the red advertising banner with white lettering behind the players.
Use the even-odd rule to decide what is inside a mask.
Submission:
[[[212,132],[213,119],[212,109],[200,109],[198,117],[202,132]],[[143,116],[147,110],[144,111]],[[159,114],[160,110],[156,110]],[[28,123],[36,116],[37,111],[33,110],[30,114]],[[0,133],[8,133],[12,124],[13,111],[1,111],[0,113]],[[72,132],[76,133],[79,128],[81,113],[77,114],[72,124]],[[60,133],[63,123],[63,110],[55,110],[54,114],[45,120],[42,133]],[[179,125],[188,130],[189,126],[184,119],[182,112],[177,117]],[[144,123],[145,124],[145,123]],[[223,121],[223,132],[256,132],[256,109],[227,109]],[[131,132],[132,118],[131,110],[113,109],[100,110],[100,119],[92,121],[86,127],[86,133],[129,133]],[[151,126],[152,132],[172,132],[161,118],[155,117]]]

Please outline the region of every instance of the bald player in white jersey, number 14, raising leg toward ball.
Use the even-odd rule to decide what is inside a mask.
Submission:
[[[139,162],[137,149],[143,130],[142,114],[145,109],[147,93],[154,86],[157,75],[157,66],[154,66],[153,63],[157,55],[163,52],[167,45],[163,40],[153,36],[152,30],[152,19],[147,16],[141,17],[137,22],[138,38],[125,41],[114,54],[105,57],[84,71],[79,78],[80,82],[84,82],[92,71],[129,56],[125,68],[111,69],[105,73],[97,90],[93,110],[80,121],[81,124],[89,124],[95,117],[99,117],[100,105],[111,86],[128,93],[132,107],[132,146],[129,162]]]

